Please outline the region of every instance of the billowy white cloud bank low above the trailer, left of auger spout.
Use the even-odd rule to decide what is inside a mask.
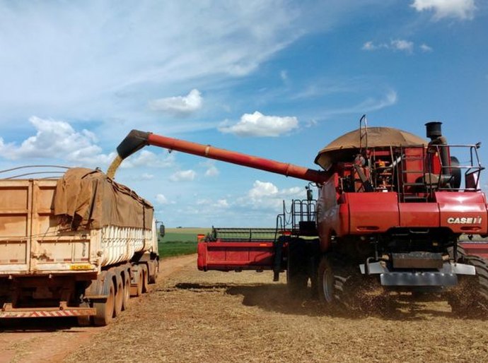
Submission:
[[[83,129],[75,131],[66,121],[41,119],[30,117],[30,124],[36,130],[35,136],[30,136],[16,143],[5,143],[0,138],[0,155],[6,159],[57,159],[66,162],[92,165],[108,165],[115,158],[115,153],[102,153],[102,148],[96,145],[97,138],[91,131]]]

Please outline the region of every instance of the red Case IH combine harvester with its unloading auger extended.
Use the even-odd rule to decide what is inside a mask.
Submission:
[[[133,130],[122,160],[155,145],[307,180],[308,198],[279,215],[276,230],[214,229],[198,246],[200,270],[286,270],[292,294],[361,309],[368,287],[445,294],[453,311],[488,311],[487,199],[475,145],[450,145],[441,122],[430,141],[388,127],[340,136],[298,167]],[[453,155],[463,155],[463,162]],[[313,201],[310,185],[318,188]],[[289,221],[289,222],[288,222]],[[461,237],[466,236],[462,242]],[[468,241],[469,239],[469,241]],[[475,242],[478,240],[479,242]],[[366,283],[367,282],[367,283]]]

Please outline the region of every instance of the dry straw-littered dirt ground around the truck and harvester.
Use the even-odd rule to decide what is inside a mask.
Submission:
[[[291,299],[271,273],[166,262],[153,290],[105,328],[0,334],[0,362],[487,362],[488,322],[446,302],[396,297],[390,311],[331,314]],[[36,352],[42,350],[42,355]]]

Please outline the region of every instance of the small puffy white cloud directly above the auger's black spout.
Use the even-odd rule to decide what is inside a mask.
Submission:
[[[165,97],[149,102],[153,111],[187,116],[202,108],[203,98],[199,90],[191,90],[186,96]]]

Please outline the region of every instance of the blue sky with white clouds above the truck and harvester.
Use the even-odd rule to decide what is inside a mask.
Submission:
[[[0,1],[0,169],[106,170],[131,129],[318,168],[365,113],[485,142],[487,34],[482,0]],[[306,185],[154,147],[116,180],[202,227],[273,226]]]

